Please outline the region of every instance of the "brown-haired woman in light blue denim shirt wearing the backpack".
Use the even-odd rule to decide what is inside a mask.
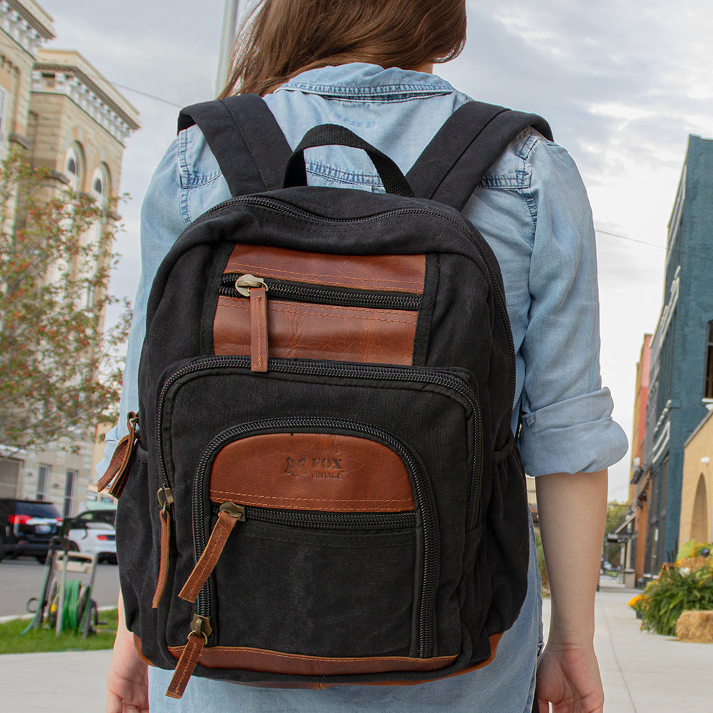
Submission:
[[[313,125],[338,123],[404,173],[448,116],[469,101],[434,62],[465,41],[464,0],[265,0],[243,31],[223,96],[259,93],[294,148]],[[329,147],[307,160],[311,185],[383,190],[365,155]],[[198,128],[183,131],[158,167],[143,208],[143,268],[125,369],[122,412],[135,410],[148,289],[189,222],[229,198]],[[540,529],[552,591],[539,656],[540,581],[530,547],[528,597],[491,665],[414,687],[260,689],[193,677],[183,699],[163,696],[170,672],[140,662],[120,627],[108,712],[211,710],[602,711],[593,649],[594,593],[606,508],[606,468],[626,450],[599,378],[594,232],[585,190],[565,151],[533,130],[518,136],[466,205],[493,247],[506,287],[517,358],[515,414],[528,473],[538,476]],[[517,426],[518,424],[513,424]],[[107,437],[111,453],[123,434]],[[533,540],[533,538],[531,538]]]

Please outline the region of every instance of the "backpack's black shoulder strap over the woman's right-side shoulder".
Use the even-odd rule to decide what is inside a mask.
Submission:
[[[488,168],[528,126],[552,139],[550,126],[536,114],[469,101],[443,123],[406,179],[419,197],[462,210]]]

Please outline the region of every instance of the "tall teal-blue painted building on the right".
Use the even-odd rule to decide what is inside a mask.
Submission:
[[[651,339],[645,573],[679,545],[684,443],[713,399],[713,140],[690,136],[669,223],[664,306]],[[642,532],[639,532],[639,536]]]

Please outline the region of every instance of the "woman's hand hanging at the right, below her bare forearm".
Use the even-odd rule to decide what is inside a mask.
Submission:
[[[604,689],[591,645],[548,643],[540,657],[533,710],[548,713],[602,713]]]

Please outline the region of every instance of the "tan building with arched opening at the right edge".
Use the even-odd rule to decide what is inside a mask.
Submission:
[[[679,542],[713,540],[713,409],[685,443]]]

